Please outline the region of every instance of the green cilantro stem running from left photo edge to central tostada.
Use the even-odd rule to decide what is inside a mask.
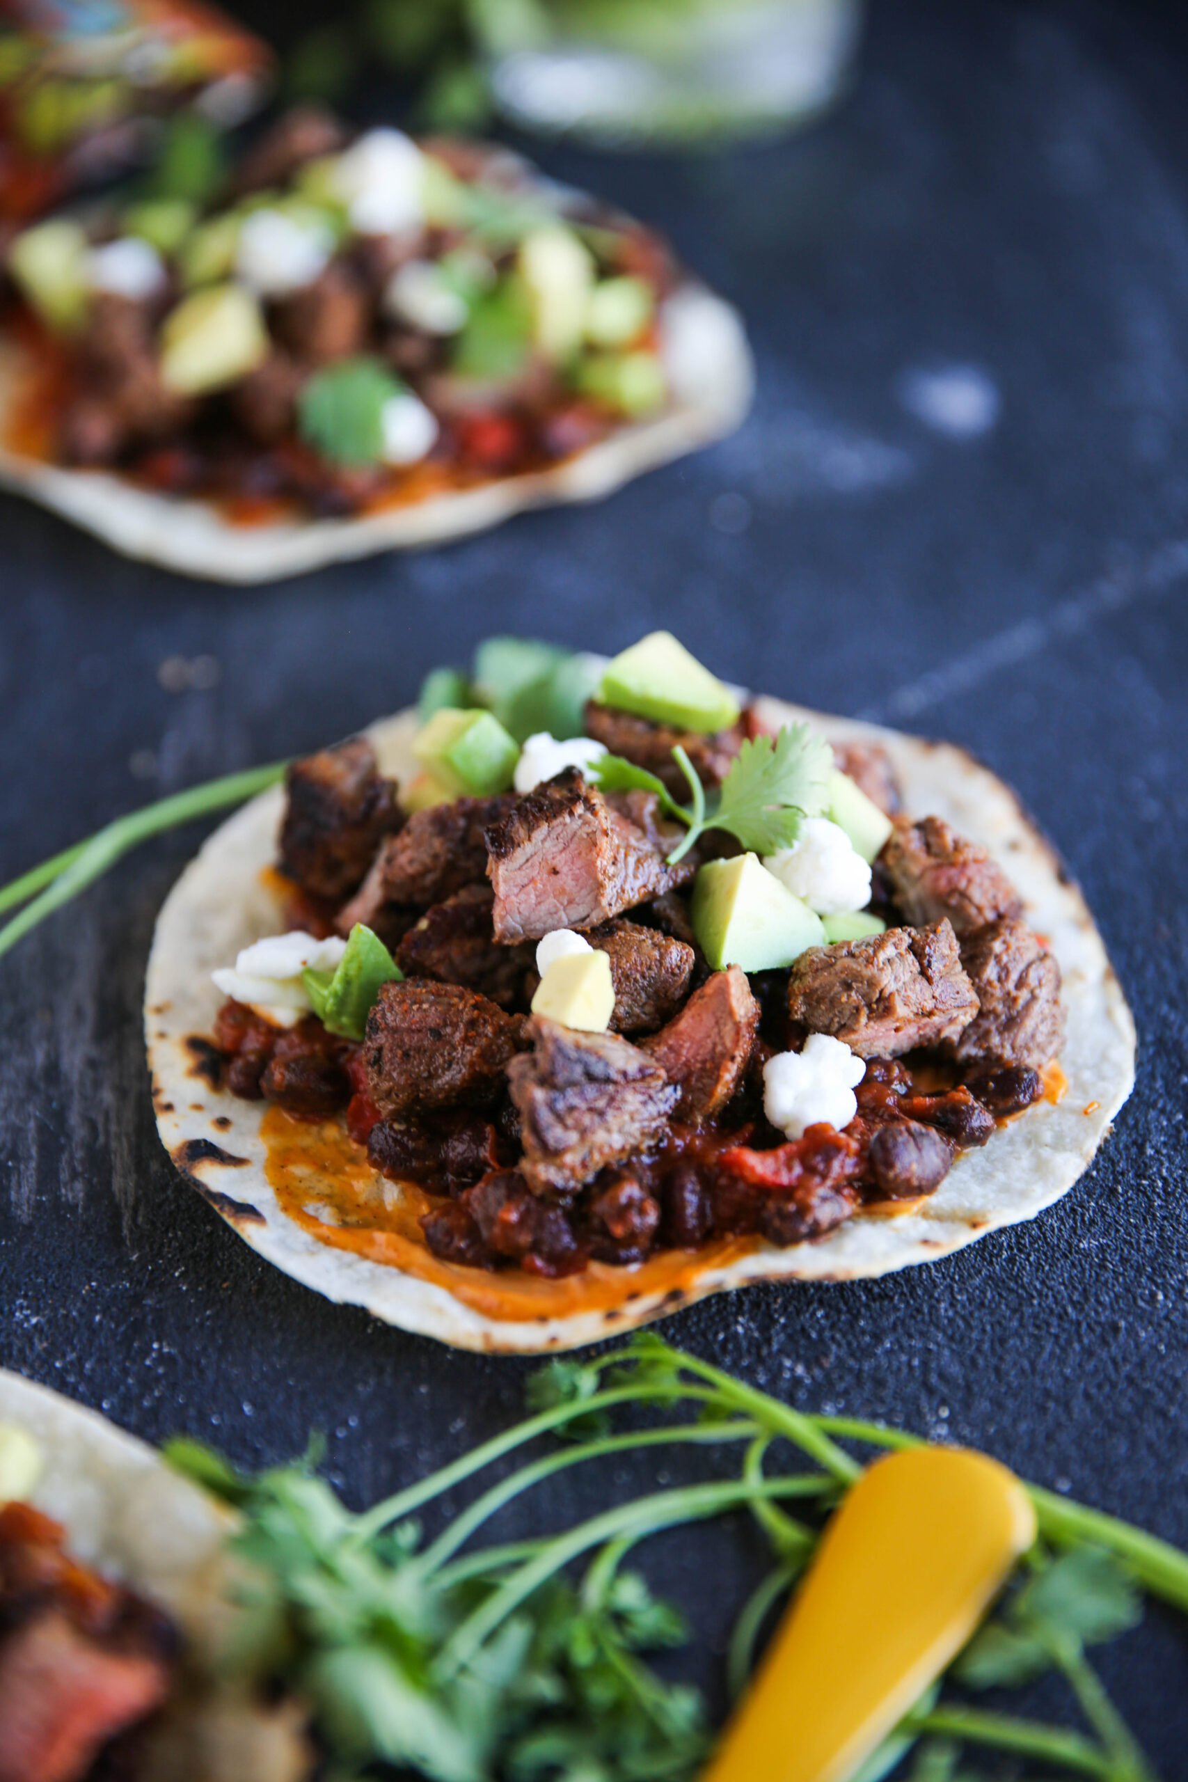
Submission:
[[[25,903],[25,909],[0,928],[0,953],[7,953],[9,948],[16,946],[46,916],[62,909],[80,891],[94,884],[96,879],[102,879],[116,861],[121,861],[141,841],[146,841],[150,836],[160,836],[164,830],[176,829],[182,823],[192,823],[212,811],[223,811],[226,805],[242,804],[258,791],[274,786],[283,772],[285,763],[276,761],[265,768],[248,768],[242,773],[228,773],[223,779],[191,786],[187,791],[171,793],[167,798],[159,798],[157,804],[148,804],[141,811],[118,816],[112,823],[96,830],[89,841],[64,848],[53,859],[30,868],[30,871],[0,889],[0,911],[12,909],[16,903],[25,902],[25,898],[39,893],[32,896],[32,903]]]

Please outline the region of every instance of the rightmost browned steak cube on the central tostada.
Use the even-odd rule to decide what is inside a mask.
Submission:
[[[962,964],[978,994],[978,1014],[960,1034],[958,1059],[1031,1064],[1063,1044],[1060,966],[1026,921],[1005,918],[962,943]]]

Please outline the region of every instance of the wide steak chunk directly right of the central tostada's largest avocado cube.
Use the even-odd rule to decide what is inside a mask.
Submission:
[[[949,921],[810,946],[787,980],[791,1019],[860,1059],[896,1059],[956,1039],[978,1012]]]

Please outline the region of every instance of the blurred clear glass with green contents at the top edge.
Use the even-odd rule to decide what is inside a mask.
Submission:
[[[477,11],[499,109],[522,128],[609,148],[679,148],[805,123],[844,91],[862,29],[862,0]]]

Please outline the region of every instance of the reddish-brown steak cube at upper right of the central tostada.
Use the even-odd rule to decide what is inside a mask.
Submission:
[[[878,864],[896,909],[912,927],[948,916],[956,937],[964,939],[989,921],[1017,916],[1022,909],[1001,866],[940,816],[926,816],[923,823],[898,818]]]

